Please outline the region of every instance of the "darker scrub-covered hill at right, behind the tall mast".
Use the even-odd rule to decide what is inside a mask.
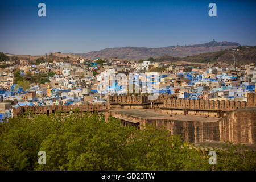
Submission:
[[[237,53],[237,64],[256,64],[256,46],[238,46],[240,49]],[[173,57],[173,56],[160,56],[155,61],[187,61],[194,63],[209,63],[209,62],[222,62],[227,64],[233,64],[233,51],[232,49],[225,49],[217,52],[200,53],[198,55],[191,55],[187,57]]]

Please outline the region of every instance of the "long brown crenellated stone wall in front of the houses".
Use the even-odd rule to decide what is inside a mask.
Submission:
[[[177,98],[174,94],[160,94],[156,100],[149,100],[148,95],[108,96],[108,104],[85,104],[85,105],[52,105],[52,106],[22,106],[13,109],[16,117],[24,111],[32,110],[37,113],[55,113],[57,110],[69,111],[79,109],[84,111],[109,111],[109,109],[155,109],[160,108],[163,114],[190,114],[206,115],[212,117],[224,116],[226,111],[256,107],[254,93],[248,93],[245,101],[214,101],[214,100],[189,100]]]

